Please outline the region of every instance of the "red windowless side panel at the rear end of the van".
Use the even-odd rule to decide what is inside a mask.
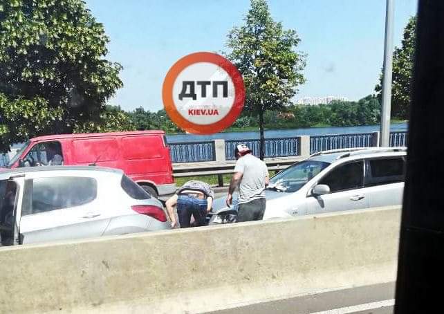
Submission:
[[[163,140],[160,136],[127,136],[122,138],[123,158],[126,160],[162,158]]]

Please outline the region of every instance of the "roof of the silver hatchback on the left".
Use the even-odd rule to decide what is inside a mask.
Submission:
[[[90,175],[100,174],[100,173],[110,173],[122,175],[123,172],[120,169],[113,169],[107,167],[97,167],[97,166],[41,166],[41,167],[23,167],[15,169],[6,169],[0,171],[0,180],[5,180],[10,178],[10,176],[20,176],[24,174],[48,174],[50,172],[55,172],[57,174],[63,174],[64,172],[83,172],[89,173]]]

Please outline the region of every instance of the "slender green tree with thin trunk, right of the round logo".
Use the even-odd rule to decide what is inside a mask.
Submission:
[[[237,65],[246,87],[246,110],[259,116],[260,157],[264,156],[263,115],[283,110],[304,83],[306,56],[297,53],[299,37],[273,21],[266,0],[251,0],[245,25],[228,34],[228,58]]]

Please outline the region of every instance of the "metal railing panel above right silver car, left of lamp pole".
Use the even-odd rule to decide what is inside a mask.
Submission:
[[[310,154],[331,149],[371,146],[372,133],[332,134],[310,137]]]

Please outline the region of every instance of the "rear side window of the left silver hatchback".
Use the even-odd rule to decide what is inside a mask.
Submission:
[[[59,176],[26,181],[22,216],[84,205],[95,200],[95,178]]]

